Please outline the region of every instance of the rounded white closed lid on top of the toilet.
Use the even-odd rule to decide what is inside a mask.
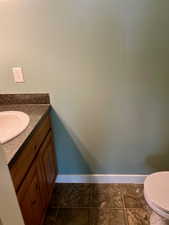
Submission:
[[[169,212],[169,172],[157,172],[147,176],[144,193],[154,205]]]

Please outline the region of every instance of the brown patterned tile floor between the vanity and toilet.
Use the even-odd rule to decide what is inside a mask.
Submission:
[[[44,225],[149,225],[143,185],[56,184]]]

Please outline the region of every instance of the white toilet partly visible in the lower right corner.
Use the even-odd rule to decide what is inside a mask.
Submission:
[[[144,181],[144,197],[154,211],[150,224],[169,224],[169,172],[153,173]]]

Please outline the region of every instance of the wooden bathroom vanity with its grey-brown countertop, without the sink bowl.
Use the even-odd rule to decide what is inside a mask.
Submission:
[[[30,125],[3,145],[26,225],[42,225],[57,175],[50,104],[5,105],[30,115]]]

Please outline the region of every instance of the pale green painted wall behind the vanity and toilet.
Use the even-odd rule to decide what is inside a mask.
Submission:
[[[50,93],[62,174],[169,169],[169,1],[1,0],[0,92]]]

